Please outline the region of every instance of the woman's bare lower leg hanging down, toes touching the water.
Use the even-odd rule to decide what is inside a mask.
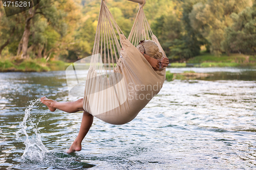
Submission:
[[[67,153],[81,151],[82,149],[81,142],[83,138],[86,136],[87,132],[90,130],[92,123],[93,123],[93,115],[91,115],[86,111],[83,111],[82,123],[80,126],[79,133],[76,139],[74,140],[74,142],[72,143],[70,149],[67,151]]]

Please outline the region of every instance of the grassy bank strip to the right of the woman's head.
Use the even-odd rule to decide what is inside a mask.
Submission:
[[[186,63],[171,63],[171,67],[185,67],[188,64],[196,64],[199,67],[236,67],[256,66],[256,58],[244,54],[231,54],[227,56],[214,56],[209,53],[202,53],[200,56],[190,58]]]

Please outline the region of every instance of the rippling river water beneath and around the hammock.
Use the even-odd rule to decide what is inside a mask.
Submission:
[[[165,82],[125,125],[94,118],[80,152],[65,151],[82,112],[48,111],[41,96],[74,101],[65,71],[0,73],[0,167],[7,169],[255,169],[256,68]]]

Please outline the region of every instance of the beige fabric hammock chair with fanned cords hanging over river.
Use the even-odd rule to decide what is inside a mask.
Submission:
[[[140,40],[151,39],[166,57],[146,20],[144,4],[145,0],[139,4],[132,31],[126,39],[105,1],[101,1],[83,109],[106,123],[130,122],[160,91],[165,80],[165,69],[155,71],[135,47]]]

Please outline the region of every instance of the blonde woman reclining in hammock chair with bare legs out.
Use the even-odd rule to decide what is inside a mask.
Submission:
[[[159,51],[157,44],[154,41],[146,40],[140,41],[137,46],[138,50],[145,57],[145,59],[151,64],[154,70],[159,70],[161,67],[167,67],[169,64],[168,58],[163,58],[163,54]],[[67,153],[72,153],[75,151],[81,151],[81,142],[90,130],[93,123],[93,115],[83,110],[83,99],[79,99],[75,102],[62,102],[47,99],[45,96],[40,99],[40,101],[45,104],[50,111],[55,111],[56,109],[68,112],[75,113],[78,111],[83,111],[82,122],[80,126],[79,133],[72,143],[70,149]]]

